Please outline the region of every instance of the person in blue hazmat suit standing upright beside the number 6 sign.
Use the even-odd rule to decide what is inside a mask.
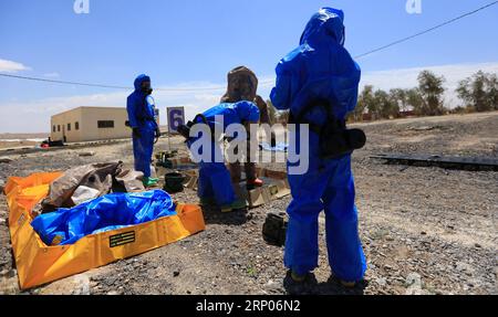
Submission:
[[[144,186],[153,187],[158,179],[151,177],[151,163],[155,139],[160,136],[157,126],[154,98],[151,96],[151,77],[139,75],[135,78],[135,91],[126,101],[129,127],[133,129],[133,156],[135,170],[144,173]]]

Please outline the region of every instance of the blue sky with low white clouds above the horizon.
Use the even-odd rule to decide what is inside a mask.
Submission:
[[[320,7],[345,11],[346,47],[357,55],[491,2],[421,0],[422,13],[408,14],[406,1],[90,0],[90,13],[75,14],[74,0],[0,0],[0,72],[124,86],[147,73],[156,87],[206,87],[224,85],[227,71],[245,64],[268,82]],[[456,77],[479,67],[496,72],[497,30],[495,6],[359,63],[364,78],[380,87],[412,84],[414,72],[396,76],[406,70],[435,67]],[[262,85],[261,95],[270,88]],[[51,114],[79,105],[124,106],[127,93],[0,77],[0,133],[44,131]],[[221,94],[164,93],[156,102],[194,114]],[[21,117],[24,124],[15,124]]]

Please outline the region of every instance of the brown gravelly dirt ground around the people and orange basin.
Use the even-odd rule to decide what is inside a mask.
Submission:
[[[0,197],[0,294],[497,294],[498,173],[384,165],[383,152],[498,158],[498,113],[360,124],[367,146],[353,156],[360,234],[369,270],[364,283],[344,289],[331,278],[321,221],[320,267],[294,285],[283,249],[261,236],[264,216],[284,211],[290,197],[263,208],[221,214],[204,210],[206,231],[142,255],[27,292],[18,288],[8,211]],[[174,147],[186,152],[179,139]],[[157,147],[166,150],[162,139]],[[77,150],[4,155],[0,186],[9,176],[63,170],[121,159],[132,163],[131,142]],[[284,169],[283,165],[272,165]],[[175,194],[195,202],[196,193]],[[322,219],[323,220],[323,219]]]

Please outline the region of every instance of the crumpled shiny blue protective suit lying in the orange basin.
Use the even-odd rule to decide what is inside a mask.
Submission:
[[[175,209],[169,194],[162,190],[111,193],[71,209],[41,214],[31,225],[46,245],[73,244],[89,234],[174,215]]]

